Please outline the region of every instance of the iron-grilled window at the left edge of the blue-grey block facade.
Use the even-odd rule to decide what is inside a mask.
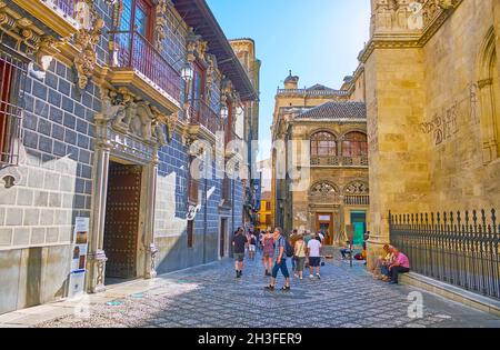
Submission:
[[[18,104],[26,80],[27,60],[0,43],[0,164],[17,164],[21,133],[21,112]]]

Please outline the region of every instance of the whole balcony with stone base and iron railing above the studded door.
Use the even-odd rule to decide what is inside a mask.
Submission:
[[[167,108],[179,109],[181,77],[144,37],[136,31],[110,31],[113,83],[133,86]],[[161,98],[163,98],[163,101]]]

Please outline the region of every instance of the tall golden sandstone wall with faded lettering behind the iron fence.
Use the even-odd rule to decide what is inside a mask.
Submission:
[[[359,59],[368,109],[372,262],[390,240],[391,210],[499,208],[500,2],[371,4],[371,39]]]

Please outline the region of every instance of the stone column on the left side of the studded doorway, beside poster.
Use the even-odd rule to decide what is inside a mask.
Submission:
[[[103,250],[103,241],[110,150],[109,141],[102,141],[96,146],[91,207],[92,220],[87,263],[87,291],[89,293],[98,293],[106,290],[104,271],[108,258],[106,258]]]

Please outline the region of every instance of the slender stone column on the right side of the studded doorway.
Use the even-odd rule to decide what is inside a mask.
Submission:
[[[146,211],[146,237],[144,237],[144,251],[146,251],[146,271],[144,278],[152,279],[157,277],[156,271],[156,258],[157,246],[154,244],[154,208],[157,197],[157,177],[158,177],[158,150],[154,151],[154,158],[147,168],[148,181],[147,181],[147,211]]]

